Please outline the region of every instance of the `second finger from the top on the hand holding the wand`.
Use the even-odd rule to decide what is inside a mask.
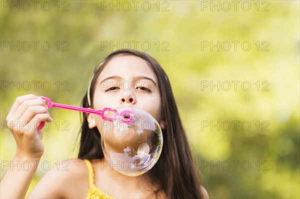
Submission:
[[[46,105],[44,105],[44,102],[42,101],[42,99],[26,100],[26,101],[23,101],[19,105],[19,107],[15,110],[15,112],[9,116],[10,120],[20,119],[27,109],[29,109],[29,108],[32,109],[35,106],[44,106],[46,108]]]

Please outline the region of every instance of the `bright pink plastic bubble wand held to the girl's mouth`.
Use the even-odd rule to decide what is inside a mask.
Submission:
[[[47,101],[47,107],[48,109],[51,107],[57,107],[57,108],[62,108],[62,109],[68,109],[68,110],[73,110],[73,111],[80,111],[84,113],[93,113],[96,115],[101,116],[103,120],[106,121],[114,121],[116,118],[120,118],[120,121],[125,123],[125,124],[130,124],[133,121],[134,115],[132,111],[130,110],[123,110],[121,113],[118,113],[115,109],[105,107],[102,110],[94,110],[94,109],[89,109],[89,108],[82,108],[82,107],[77,107],[77,106],[70,106],[70,105],[65,105],[65,104],[58,104],[52,102],[49,98],[40,96],[43,100]],[[107,117],[108,113],[111,112],[112,116]],[[45,122],[41,122],[39,126],[37,127],[37,130],[40,130],[43,128],[45,125]]]

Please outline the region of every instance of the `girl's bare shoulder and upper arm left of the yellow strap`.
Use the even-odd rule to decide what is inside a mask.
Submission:
[[[28,198],[85,198],[88,189],[88,171],[84,161],[67,159],[52,167]]]

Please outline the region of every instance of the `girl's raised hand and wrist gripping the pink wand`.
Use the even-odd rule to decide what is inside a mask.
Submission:
[[[16,156],[20,159],[40,159],[44,146],[40,122],[52,122],[44,101],[29,94],[17,97],[6,120],[16,142]]]

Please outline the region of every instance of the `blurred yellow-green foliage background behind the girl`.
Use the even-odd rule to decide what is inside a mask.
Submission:
[[[93,67],[129,47],[168,74],[210,198],[300,198],[298,0],[0,3],[1,179],[15,154],[5,127],[15,98],[79,106]],[[76,157],[79,113],[50,114],[46,164],[28,193]]]

